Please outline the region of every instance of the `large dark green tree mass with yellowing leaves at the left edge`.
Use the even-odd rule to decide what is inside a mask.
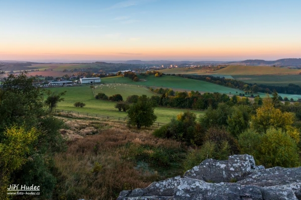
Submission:
[[[54,153],[65,149],[59,132],[63,122],[51,116],[43,90],[36,88],[35,82],[35,78],[27,77],[26,73],[3,79],[0,89],[0,176],[7,174],[5,178],[10,183],[41,185],[40,197],[50,198],[55,186],[52,158]],[[12,165],[2,162],[7,157],[14,163],[15,158],[20,158],[8,173],[6,171]],[[41,178],[46,174],[47,178]],[[3,188],[3,184],[6,183],[0,181],[0,187]]]

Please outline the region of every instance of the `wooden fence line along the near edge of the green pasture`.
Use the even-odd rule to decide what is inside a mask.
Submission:
[[[74,118],[82,118],[82,116],[86,117],[94,117],[97,119],[100,119],[102,121],[119,121],[122,123],[127,123],[127,117],[115,117],[115,116],[109,116],[109,115],[100,115],[100,114],[92,114],[88,112],[77,112],[72,110],[61,110],[61,109],[55,109],[55,114],[59,115],[60,113],[66,113],[66,114],[72,114],[72,117]],[[154,124],[151,127],[159,128],[161,126],[166,125],[166,123],[161,122],[154,122]]]

